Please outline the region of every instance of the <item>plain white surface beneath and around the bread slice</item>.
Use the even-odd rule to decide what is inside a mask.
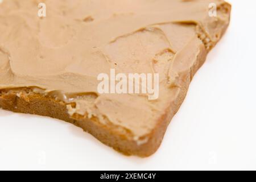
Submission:
[[[256,169],[256,3],[229,2],[230,27],[155,155],[123,156],[71,124],[0,110],[0,169]]]

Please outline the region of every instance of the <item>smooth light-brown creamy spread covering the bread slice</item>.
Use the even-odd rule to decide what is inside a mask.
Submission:
[[[45,17],[38,16],[40,2]],[[210,3],[217,16],[209,15]],[[71,116],[111,122],[138,139],[174,104],[197,57],[220,39],[229,8],[222,0],[3,0],[0,89],[31,88],[66,102]],[[110,69],[159,73],[159,98],[98,93],[97,76]]]

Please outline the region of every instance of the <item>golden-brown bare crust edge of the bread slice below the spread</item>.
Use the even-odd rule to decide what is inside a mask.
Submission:
[[[5,110],[11,110],[16,113],[37,114],[61,119],[81,127],[102,143],[113,147],[114,150],[122,152],[122,154],[146,157],[154,154],[159,148],[171,118],[177,112],[185,98],[191,78],[204,63],[206,55],[207,51],[202,46],[200,54],[197,56],[197,61],[191,70],[181,75],[183,85],[181,85],[177,100],[167,107],[166,111],[164,111],[165,114],[158,119],[154,130],[147,136],[144,136],[148,138],[148,142],[141,145],[138,145],[138,143],[127,136],[126,133],[116,130],[113,126],[104,125],[97,121],[96,118],[88,119],[79,114],[74,114],[71,117],[67,110],[68,104],[63,101],[55,100],[55,98],[32,92],[30,88],[1,90],[0,106]]]

